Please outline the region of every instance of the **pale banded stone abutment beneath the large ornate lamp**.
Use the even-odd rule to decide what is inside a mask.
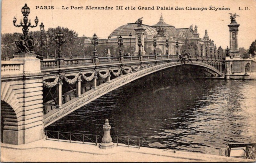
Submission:
[[[43,77],[40,60],[33,54],[17,54],[2,61],[1,125],[3,143],[27,144],[44,137]]]

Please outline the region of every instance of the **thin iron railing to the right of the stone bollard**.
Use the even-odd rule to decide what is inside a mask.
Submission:
[[[119,143],[119,146],[125,146],[128,148],[133,147],[133,148],[140,149],[140,145],[143,141],[145,141],[143,137],[127,137],[127,136],[119,136],[119,135],[116,135],[113,137],[113,142],[116,143],[116,146],[118,146],[118,143]]]

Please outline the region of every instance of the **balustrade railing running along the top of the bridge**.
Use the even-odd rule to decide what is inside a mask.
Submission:
[[[162,55],[162,56],[124,56],[124,57],[99,57],[99,58],[79,58],[79,59],[64,59],[64,63],[59,63],[60,60],[50,59],[41,61],[41,70],[76,67],[76,66],[89,66],[99,64],[112,64],[112,63],[129,63],[129,62],[142,62],[142,61],[157,61],[157,60],[175,60],[179,59],[178,55]],[[207,56],[193,56],[193,59],[201,61],[217,61],[222,60],[218,57]]]

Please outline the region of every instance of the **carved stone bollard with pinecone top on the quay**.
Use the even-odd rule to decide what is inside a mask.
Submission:
[[[103,125],[104,135],[102,137],[102,142],[99,145],[100,149],[109,149],[113,148],[115,144],[112,142],[112,138],[110,136],[111,126],[108,123],[108,119],[105,120],[105,124]]]

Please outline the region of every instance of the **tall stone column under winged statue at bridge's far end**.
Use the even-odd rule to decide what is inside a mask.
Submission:
[[[231,19],[231,23],[228,25],[229,27],[229,55],[239,57],[239,49],[238,49],[238,27],[240,25],[236,23],[235,18]]]

